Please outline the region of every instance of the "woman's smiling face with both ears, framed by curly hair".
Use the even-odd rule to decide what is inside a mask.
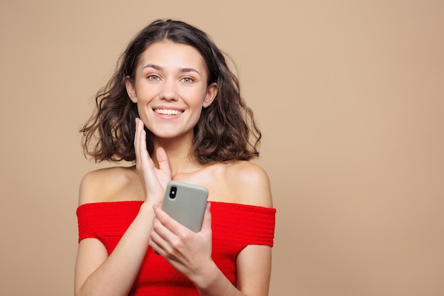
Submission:
[[[152,43],[140,55],[135,80],[126,79],[140,119],[159,138],[192,136],[202,108],[213,102],[216,83],[208,84],[206,64],[190,45]]]

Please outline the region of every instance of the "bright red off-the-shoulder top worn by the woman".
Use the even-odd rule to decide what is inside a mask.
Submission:
[[[99,239],[111,254],[138,214],[140,201],[98,202],[77,208],[79,241]],[[211,202],[214,263],[236,285],[235,260],[248,245],[273,246],[276,209]],[[199,295],[190,280],[148,248],[130,295]]]

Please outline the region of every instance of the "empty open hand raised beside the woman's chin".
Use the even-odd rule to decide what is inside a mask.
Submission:
[[[165,194],[167,183],[171,180],[170,165],[168,163],[167,153],[160,147],[155,151],[159,168],[155,167],[154,162],[148,154],[146,132],[143,126],[144,124],[141,119],[135,119],[135,168],[138,170],[140,180],[143,182],[146,201],[160,205]]]

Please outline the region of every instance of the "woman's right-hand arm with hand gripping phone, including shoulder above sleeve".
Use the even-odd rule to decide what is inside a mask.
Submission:
[[[239,181],[239,196],[248,196],[240,203],[255,202],[262,207],[272,207],[270,182],[265,172],[255,165],[236,169],[229,174]],[[246,177],[245,177],[246,176]],[[250,196],[255,199],[250,199]],[[250,245],[237,257],[237,287],[223,275],[211,259],[211,212],[206,209],[201,231],[195,234],[155,207],[155,221],[150,246],[170,262],[174,268],[192,280],[199,293],[210,295],[266,296],[270,285],[270,246]]]

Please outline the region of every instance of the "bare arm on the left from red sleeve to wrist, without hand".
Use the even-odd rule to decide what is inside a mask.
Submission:
[[[128,295],[148,248],[153,217],[144,203],[110,256],[98,239],[83,239],[77,251],[74,294]]]

